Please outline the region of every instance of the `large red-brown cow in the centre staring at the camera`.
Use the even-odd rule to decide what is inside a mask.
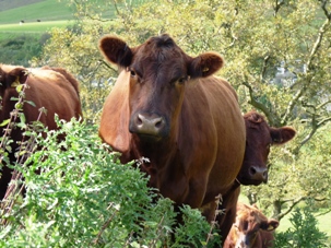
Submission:
[[[239,173],[246,140],[235,91],[212,75],[222,57],[190,57],[166,34],[134,48],[106,36],[99,48],[120,69],[102,114],[103,141],[122,163],[149,158],[140,168],[164,197],[213,215],[215,197]]]

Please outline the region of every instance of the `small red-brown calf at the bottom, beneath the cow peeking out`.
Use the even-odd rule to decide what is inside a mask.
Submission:
[[[255,205],[238,202],[236,222],[225,240],[224,248],[268,248],[273,246],[273,231],[279,221],[268,219]]]

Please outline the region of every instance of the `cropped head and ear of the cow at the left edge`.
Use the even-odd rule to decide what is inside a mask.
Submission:
[[[0,64],[0,96],[3,96],[7,88],[16,87],[19,84],[25,83],[26,78],[25,68]]]

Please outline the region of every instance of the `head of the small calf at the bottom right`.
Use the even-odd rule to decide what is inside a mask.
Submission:
[[[268,219],[257,206],[238,203],[236,222],[232,229],[232,237],[236,240],[235,247],[257,247],[259,232],[273,232],[279,225],[279,221]]]

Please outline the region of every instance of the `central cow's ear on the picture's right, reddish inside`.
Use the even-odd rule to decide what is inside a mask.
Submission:
[[[223,58],[216,52],[205,52],[192,59],[189,64],[191,79],[205,78],[214,74],[224,64]]]

